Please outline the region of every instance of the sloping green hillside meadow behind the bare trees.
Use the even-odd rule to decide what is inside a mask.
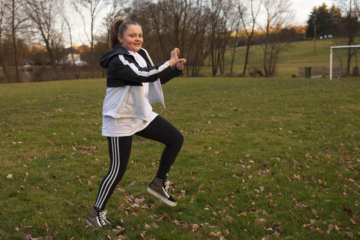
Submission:
[[[292,42],[287,48],[279,55],[275,76],[292,76],[292,74],[298,76],[298,68],[306,66],[329,66],[330,65],[330,46],[339,45],[339,41],[343,39],[320,39],[316,40],[316,54],[314,54],[314,41],[305,40]],[[342,44],[346,45],[346,44]],[[243,72],[244,61],[245,61],[246,46],[237,47],[233,74],[240,74]],[[225,73],[230,73],[230,64],[233,54],[233,48],[229,48],[225,54]],[[335,53],[334,53],[335,54]],[[250,48],[249,53],[249,65],[263,70],[263,46],[253,45]],[[345,60],[344,60],[345,61]],[[207,65],[208,62],[205,62]],[[334,63],[337,64],[337,63]],[[355,66],[355,65],[354,65]],[[202,68],[202,73],[205,75],[211,75],[211,66]],[[220,73],[220,71],[219,71]],[[246,72],[249,75],[249,70]]]

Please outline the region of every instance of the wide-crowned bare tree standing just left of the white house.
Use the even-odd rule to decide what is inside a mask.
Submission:
[[[62,43],[63,37],[62,29],[58,31],[56,28],[59,19],[57,4],[57,0],[27,0],[27,13],[33,22],[35,34],[46,47],[55,79],[59,77],[56,51]]]

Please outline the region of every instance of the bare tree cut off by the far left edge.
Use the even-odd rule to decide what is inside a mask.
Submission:
[[[3,59],[4,53],[5,53],[5,47],[3,44],[3,37],[4,37],[4,32],[8,32],[9,31],[9,19],[10,16],[7,15],[7,11],[6,8],[8,7],[8,4],[10,1],[6,0],[6,1],[0,1],[0,63],[1,66],[3,67],[3,72],[5,75],[5,80],[6,82],[10,82],[10,78],[9,78],[9,73],[8,73],[8,68],[5,64],[5,61]]]

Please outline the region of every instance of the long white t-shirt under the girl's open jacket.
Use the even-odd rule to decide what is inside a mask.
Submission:
[[[140,67],[147,67],[147,64],[144,58],[133,51],[129,51],[129,53],[134,56],[136,62],[140,65]],[[149,83],[143,82],[144,95],[145,95],[145,106],[147,109],[147,116],[149,119],[147,122],[144,122],[137,118],[113,118],[110,116],[103,116],[103,136],[107,137],[123,137],[123,136],[131,136],[136,132],[143,130],[145,127],[149,125],[151,121],[158,116],[157,113],[154,113],[152,110],[149,100]],[[109,89],[109,88],[107,88]]]

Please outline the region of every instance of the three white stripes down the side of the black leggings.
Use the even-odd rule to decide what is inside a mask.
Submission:
[[[104,200],[106,199],[106,196],[109,193],[110,186],[113,185],[113,183],[116,179],[117,172],[119,171],[120,161],[117,158],[117,156],[120,154],[118,140],[119,140],[119,137],[111,137],[113,166],[112,166],[110,174],[105,179],[103,186],[99,190],[99,198],[98,198],[98,200],[96,200],[96,203],[95,203],[95,207],[98,209],[101,209],[100,207],[103,205]]]

